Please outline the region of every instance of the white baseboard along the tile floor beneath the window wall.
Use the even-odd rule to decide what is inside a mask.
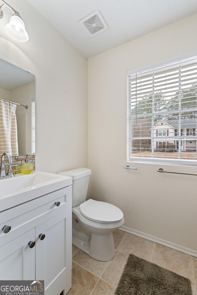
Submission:
[[[189,254],[191,256],[197,257],[197,251],[195,251],[195,250],[185,248],[183,246],[171,243],[169,241],[166,241],[166,240],[163,240],[163,239],[148,235],[147,233],[139,232],[138,230],[135,230],[135,229],[130,229],[129,227],[126,227],[126,226],[121,226],[119,229],[123,230],[124,232],[131,233],[132,235],[147,239],[149,241],[152,241],[152,242],[167,246],[169,248],[178,250],[180,252]]]

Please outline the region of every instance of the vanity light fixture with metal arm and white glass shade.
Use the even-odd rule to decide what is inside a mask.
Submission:
[[[25,25],[20,14],[4,0],[1,0],[1,2],[3,2],[3,4],[0,6],[0,18],[3,17],[3,9],[5,6],[14,11],[14,14],[10,18],[10,22],[5,27],[6,33],[16,41],[26,42],[29,39],[29,36],[25,30]]]

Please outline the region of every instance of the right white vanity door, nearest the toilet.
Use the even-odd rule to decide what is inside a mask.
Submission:
[[[49,295],[72,269],[72,208],[36,227],[36,280]],[[40,240],[40,234],[45,238]]]

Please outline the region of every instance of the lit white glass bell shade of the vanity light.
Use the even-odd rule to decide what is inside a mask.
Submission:
[[[19,14],[13,14],[5,29],[6,33],[16,41],[26,42],[29,39],[25,30],[25,24]]]

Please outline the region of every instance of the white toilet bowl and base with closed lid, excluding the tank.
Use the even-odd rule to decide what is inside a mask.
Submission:
[[[86,203],[91,202],[92,205],[94,204],[95,209],[102,205],[104,208],[108,203],[94,201],[89,199],[83,202],[81,205],[86,205]],[[73,245],[81,249],[83,252],[88,254],[90,257],[100,261],[108,261],[111,260],[115,256],[115,249],[114,249],[114,240],[112,232],[115,229],[118,229],[124,223],[123,213],[117,207],[111,205],[111,212],[110,214],[106,215],[107,218],[104,217],[101,211],[97,213],[101,213],[100,219],[97,216],[97,220],[93,220],[92,218],[85,217],[80,209],[80,206],[75,206],[72,209],[72,240]],[[112,215],[113,209],[115,209],[114,213],[118,210],[119,215],[122,216],[119,220],[114,218],[113,221],[109,221],[109,215]],[[118,209],[118,210],[117,210]],[[86,211],[86,213],[92,214],[92,211]],[[98,214],[97,214],[98,215]],[[108,221],[107,221],[108,220]]]

